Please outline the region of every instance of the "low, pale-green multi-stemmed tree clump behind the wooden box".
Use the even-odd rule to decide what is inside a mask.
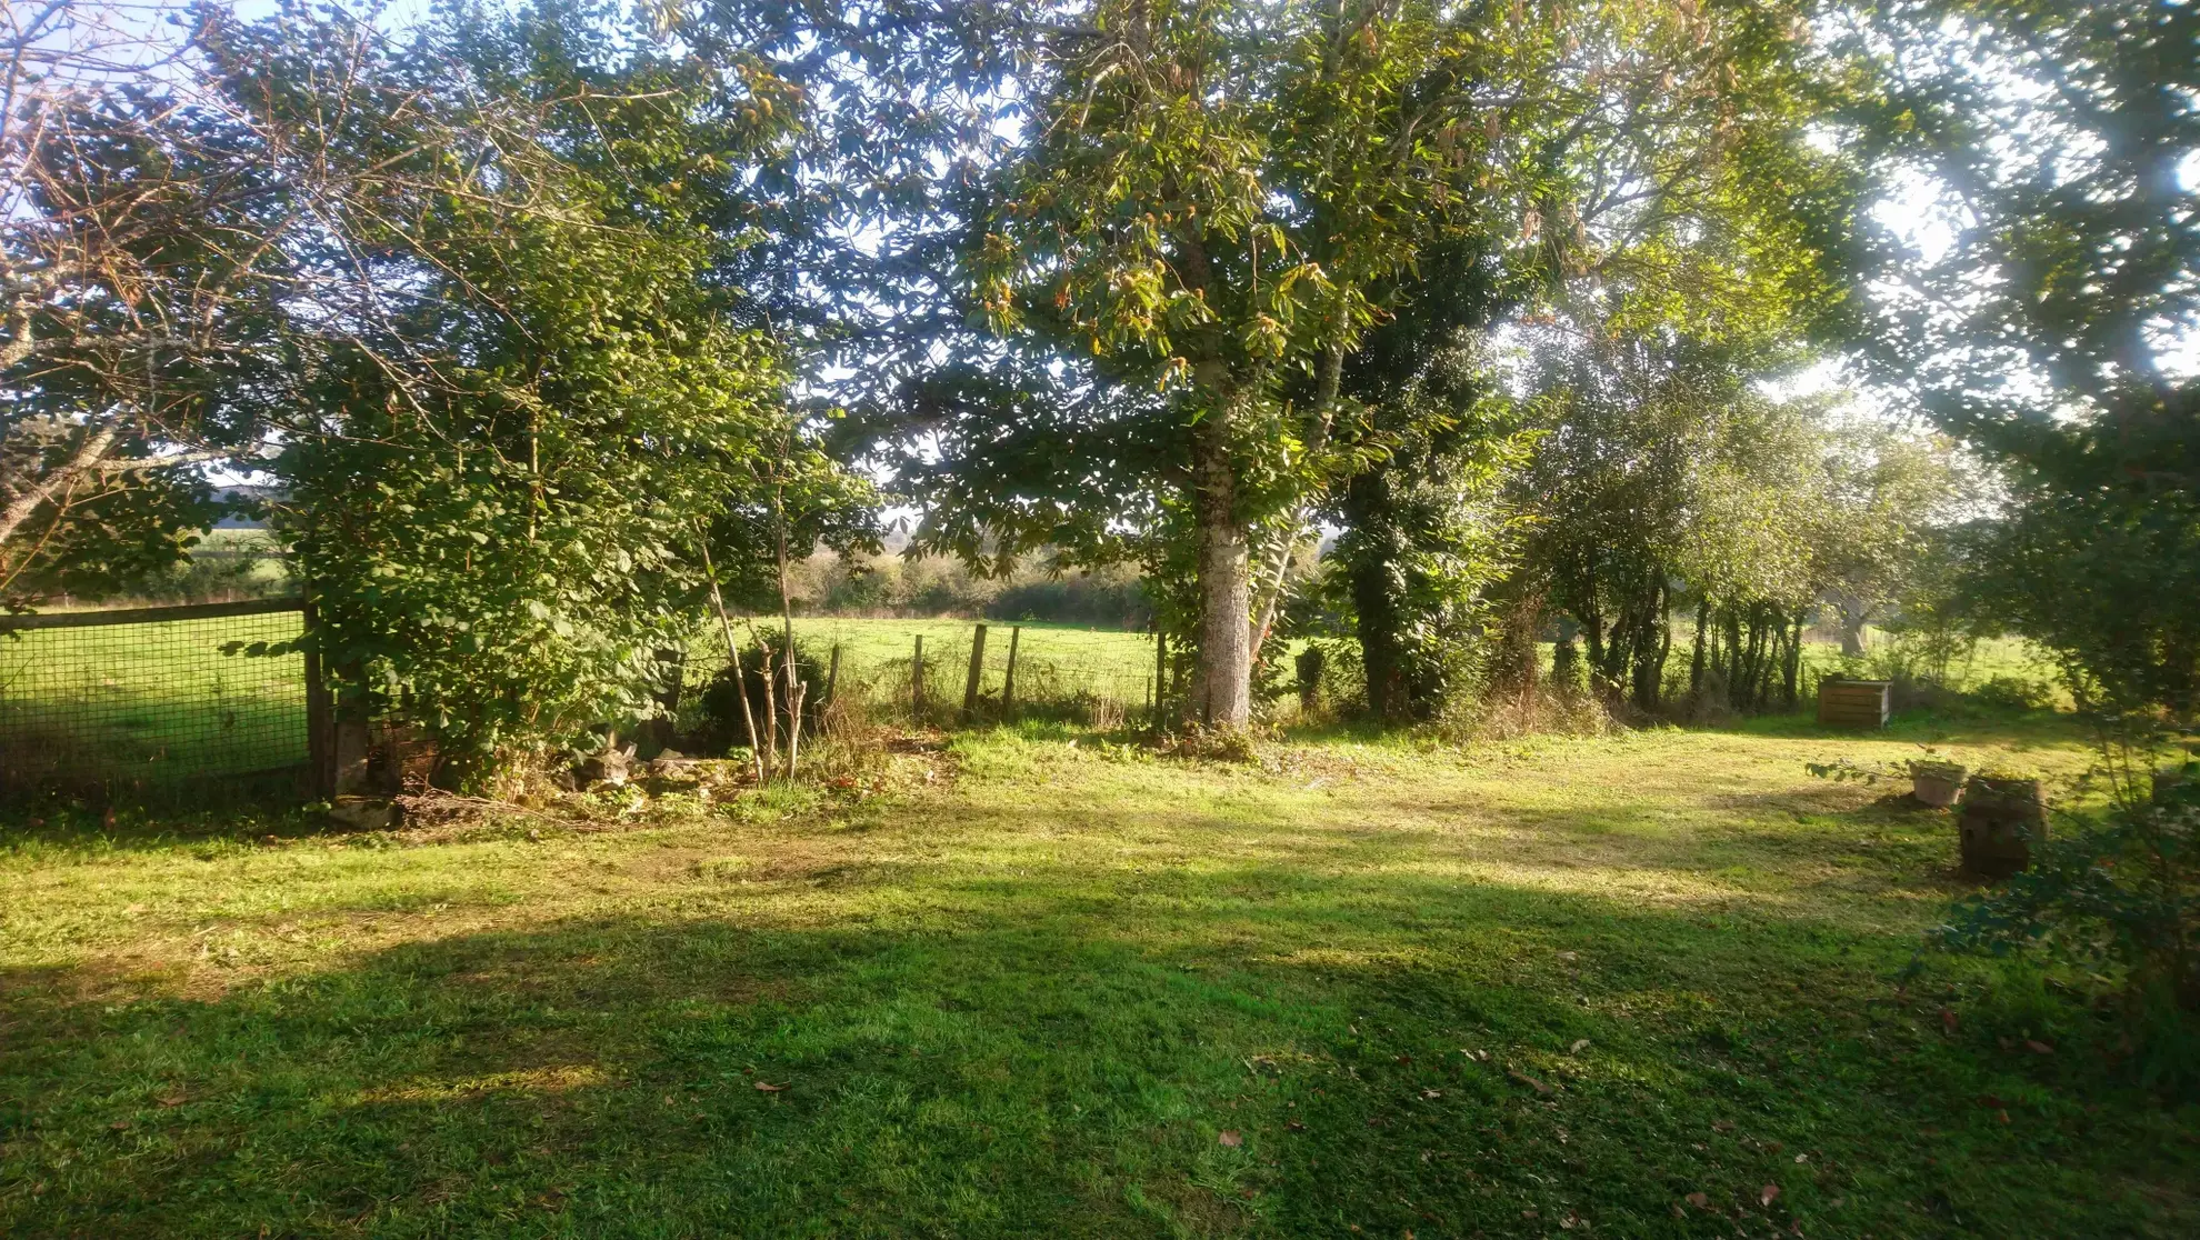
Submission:
[[[1945,446],[1771,396],[1756,347],[1544,330],[1531,358],[1516,589],[1580,627],[1608,701],[1665,706],[1692,609],[1690,695],[1793,706],[1819,600],[1907,600],[1949,534]]]

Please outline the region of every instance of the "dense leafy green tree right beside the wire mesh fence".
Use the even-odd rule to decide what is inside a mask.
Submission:
[[[310,640],[449,783],[645,715],[706,541],[737,574],[772,556],[726,514],[832,488],[777,343],[717,281],[739,240],[708,226],[785,119],[601,33],[548,7],[405,46],[299,11],[205,37],[257,132],[363,189],[310,240],[372,255],[376,314],[315,339],[295,407],[249,413],[282,431]]]

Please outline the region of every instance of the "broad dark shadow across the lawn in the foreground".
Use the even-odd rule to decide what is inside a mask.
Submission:
[[[1940,998],[1896,998],[1892,937],[1285,864],[946,875],[818,921],[669,910],[416,941],[213,1003],[4,974],[0,1231],[2196,1218],[2165,1187],[2200,1161],[2176,1115],[2110,1088],[2079,1033],[2048,1060],[1947,1038]]]

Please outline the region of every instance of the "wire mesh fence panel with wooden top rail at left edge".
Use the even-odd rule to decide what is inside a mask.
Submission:
[[[304,767],[297,600],[0,618],[0,787]]]

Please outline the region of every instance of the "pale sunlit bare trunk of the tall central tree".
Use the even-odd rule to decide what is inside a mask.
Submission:
[[[1252,721],[1252,580],[1245,525],[1236,519],[1230,402],[1192,427],[1192,512],[1199,528],[1199,671],[1190,717],[1225,732]]]

